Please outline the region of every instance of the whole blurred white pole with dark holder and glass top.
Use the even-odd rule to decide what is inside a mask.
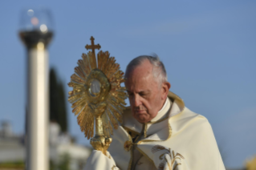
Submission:
[[[47,45],[53,36],[46,9],[22,13],[19,36],[26,45],[26,169],[48,170],[49,67]]]

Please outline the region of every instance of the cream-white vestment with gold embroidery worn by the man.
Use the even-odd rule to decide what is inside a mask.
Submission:
[[[172,92],[149,123],[124,111],[124,123],[112,139],[110,155],[92,152],[86,169],[225,170],[208,120]]]

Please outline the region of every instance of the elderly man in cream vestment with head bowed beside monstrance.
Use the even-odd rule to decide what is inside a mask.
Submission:
[[[109,155],[93,151],[86,169],[225,169],[208,120],[169,91],[157,56],[133,59],[125,78],[131,107],[114,131]]]

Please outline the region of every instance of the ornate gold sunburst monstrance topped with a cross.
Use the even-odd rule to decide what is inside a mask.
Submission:
[[[73,87],[73,91],[68,93],[68,101],[72,103],[72,112],[78,115],[77,122],[87,139],[94,135],[95,118],[96,132],[91,145],[106,155],[112,142],[112,127],[117,129],[123,120],[127,94],[120,83],[124,82],[124,72],[120,71],[115,58],[109,57],[108,51],[100,51],[96,61],[95,49],[100,50],[100,44],[95,45],[93,37],[91,45],[85,48],[91,51],[82,55],[75,74],[71,75],[68,86]]]

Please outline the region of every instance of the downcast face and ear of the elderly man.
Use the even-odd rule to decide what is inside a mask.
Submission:
[[[165,103],[170,83],[161,86],[152,75],[152,64],[145,60],[127,74],[127,88],[132,115],[140,123],[149,122]]]

